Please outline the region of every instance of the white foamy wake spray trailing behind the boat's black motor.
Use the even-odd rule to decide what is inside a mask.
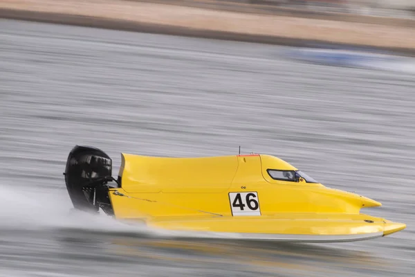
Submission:
[[[146,231],[144,226],[127,225],[107,215],[72,211],[66,190],[24,189],[0,186],[1,229],[75,228],[102,231]]]

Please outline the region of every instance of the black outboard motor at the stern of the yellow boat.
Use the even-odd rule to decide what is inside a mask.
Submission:
[[[64,172],[66,188],[74,208],[112,213],[108,197],[109,181],[112,178],[112,160],[102,150],[75,145],[68,155]]]

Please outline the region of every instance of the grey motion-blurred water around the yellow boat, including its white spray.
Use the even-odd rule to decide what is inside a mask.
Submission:
[[[305,64],[284,48],[0,20],[1,276],[413,276],[415,75]],[[407,223],[342,244],[154,236],[71,213],[75,144],[275,154]]]

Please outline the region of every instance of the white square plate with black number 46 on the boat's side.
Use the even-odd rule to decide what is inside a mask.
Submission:
[[[229,201],[233,216],[261,215],[258,193],[256,191],[247,193],[229,193]]]

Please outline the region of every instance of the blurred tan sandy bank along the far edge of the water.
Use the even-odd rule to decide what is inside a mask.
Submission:
[[[293,17],[276,11],[264,16],[264,8],[243,12],[243,7],[234,5],[228,6],[230,10],[216,10],[205,5],[181,6],[185,0],[169,1],[169,5],[154,1],[163,0],[8,0],[0,7],[0,18],[291,46],[310,42],[360,45],[415,55],[414,20],[355,16],[342,21],[336,20],[338,14],[330,15],[330,20],[330,16]],[[196,2],[201,3],[187,0]],[[358,18],[360,21],[354,21]]]

